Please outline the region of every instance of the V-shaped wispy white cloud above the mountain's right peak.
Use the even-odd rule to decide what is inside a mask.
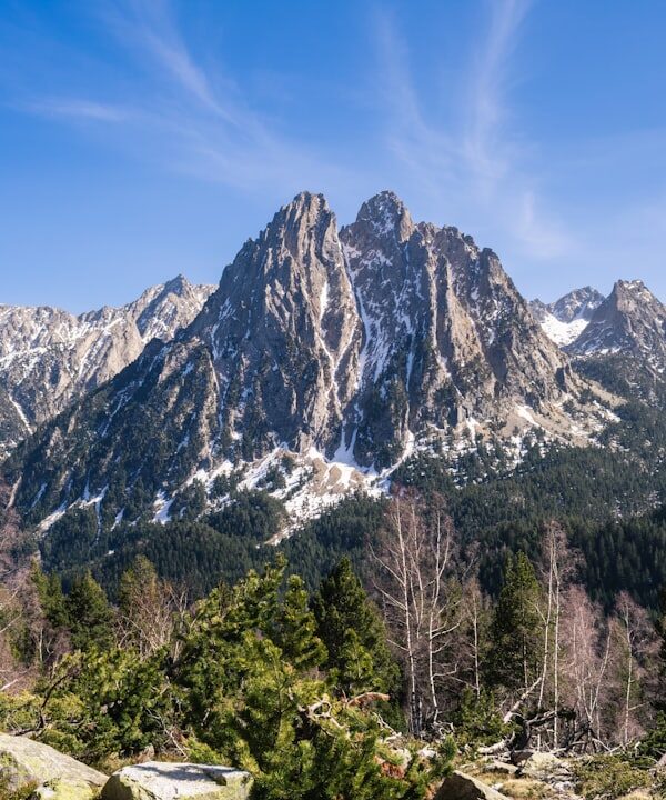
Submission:
[[[463,67],[461,82],[442,97],[422,98],[411,77],[410,49],[390,12],[379,11],[379,46],[386,139],[410,180],[443,208],[463,218],[491,220],[525,256],[552,259],[571,236],[548,214],[525,153],[531,147],[515,130],[509,103],[512,56],[529,11],[529,0],[487,0],[487,28]],[[446,103],[456,103],[455,109]],[[427,109],[427,110],[426,110]],[[448,114],[440,113],[442,110]],[[440,120],[447,117],[444,126]]]

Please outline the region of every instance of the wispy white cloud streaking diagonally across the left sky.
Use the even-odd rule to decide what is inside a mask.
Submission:
[[[130,56],[140,89],[128,79],[115,107],[98,99],[47,97],[32,112],[132,127],[155,146],[150,157],[170,169],[243,191],[299,191],[352,184],[352,169],[330,162],[313,142],[286,136],[256,112],[219,59],[198,62],[169,0],[119,0],[99,22]],[[134,98],[133,102],[131,98]]]

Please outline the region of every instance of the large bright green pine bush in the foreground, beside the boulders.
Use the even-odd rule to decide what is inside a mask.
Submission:
[[[414,756],[404,780],[383,774],[377,722],[311,672],[326,652],[302,581],[281,596],[284,569],[214,591],[191,621],[173,680],[194,750],[249,769],[268,800],[423,797],[428,769]]]

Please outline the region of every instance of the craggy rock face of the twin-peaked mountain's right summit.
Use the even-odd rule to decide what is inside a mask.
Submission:
[[[566,359],[542,333],[491,250],[455,228],[414,223],[392,193],[341,231],[364,327],[356,420],[362,463],[407,430],[534,408],[562,394]],[[352,431],[350,433],[350,431]]]

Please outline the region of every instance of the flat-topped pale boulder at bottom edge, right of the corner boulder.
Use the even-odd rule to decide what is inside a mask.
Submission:
[[[246,800],[252,778],[229,767],[147,761],[114,772],[102,800]]]

